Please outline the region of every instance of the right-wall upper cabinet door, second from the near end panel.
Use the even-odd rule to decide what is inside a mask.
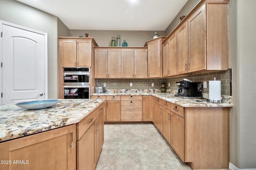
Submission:
[[[177,30],[178,74],[188,72],[188,22]]]

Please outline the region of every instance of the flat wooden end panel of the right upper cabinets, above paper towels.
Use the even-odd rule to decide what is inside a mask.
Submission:
[[[206,4],[207,70],[227,70],[228,4]]]

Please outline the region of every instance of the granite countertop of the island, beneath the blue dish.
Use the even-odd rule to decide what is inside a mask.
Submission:
[[[0,142],[78,123],[104,100],[62,99],[56,105],[38,110],[15,104],[0,106]]]

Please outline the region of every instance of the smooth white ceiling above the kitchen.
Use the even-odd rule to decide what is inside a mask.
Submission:
[[[17,0],[69,29],[164,31],[188,0]]]

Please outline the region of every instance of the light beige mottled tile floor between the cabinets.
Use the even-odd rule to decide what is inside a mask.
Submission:
[[[105,124],[96,170],[191,170],[152,123]]]

